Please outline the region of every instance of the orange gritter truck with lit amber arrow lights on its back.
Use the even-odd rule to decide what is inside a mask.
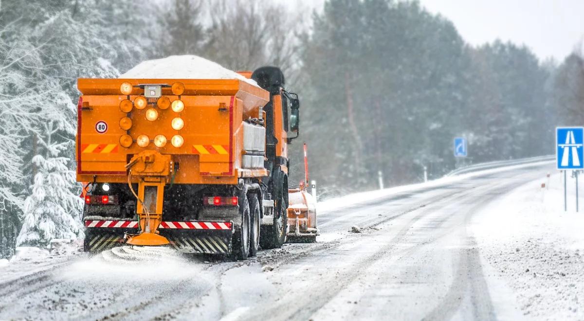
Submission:
[[[279,68],[242,79],[78,79],[84,250],[168,245],[245,260],[288,231],[295,93]]]

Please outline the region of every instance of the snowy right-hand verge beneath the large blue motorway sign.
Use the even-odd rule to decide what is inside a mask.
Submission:
[[[530,319],[584,319],[584,209],[575,212],[573,185],[568,179],[568,212],[556,174],[520,186],[473,220],[491,277],[512,289]]]

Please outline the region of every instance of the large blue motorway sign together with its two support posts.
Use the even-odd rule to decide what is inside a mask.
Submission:
[[[575,172],[576,212],[578,212],[578,170],[584,169],[584,127],[555,128],[555,158],[558,170],[564,171],[564,211],[568,211],[567,170]]]

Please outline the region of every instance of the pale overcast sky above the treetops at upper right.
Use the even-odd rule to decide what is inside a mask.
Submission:
[[[419,1],[430,12],[451,20],[474,45],[500,38],[526,44],[540,58],[561,61],[584,36],[584,0]],[[320,9],[324,0],[304,2]]]

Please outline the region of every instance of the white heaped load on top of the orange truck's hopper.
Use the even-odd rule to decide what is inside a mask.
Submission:
[[[240,79],[258,86],[237,72],[223,68],[216,62],[196,55],[172,55],[170,57],[147,60],[128,70],[119,78],[150,79]]]

